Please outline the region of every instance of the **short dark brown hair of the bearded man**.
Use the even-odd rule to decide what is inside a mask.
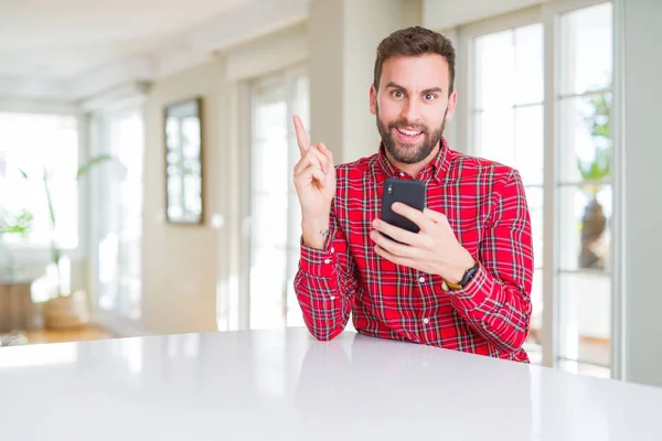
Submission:
[[[446,36],[438,32],[421,26],[412,26],[395,31],[382,40],[377,46],[375,60],[375,88],[380,88],[380,77],[384,62],[392,56],[419,56],[428,54],[441,55],[448,62],[450,84],[448,95],[453,90],[455,84],[455,49]]]

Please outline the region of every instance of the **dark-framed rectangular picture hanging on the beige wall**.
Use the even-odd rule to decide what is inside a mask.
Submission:
[[[202,98],[166,106],[166,217],[172,224],[202,224]]]

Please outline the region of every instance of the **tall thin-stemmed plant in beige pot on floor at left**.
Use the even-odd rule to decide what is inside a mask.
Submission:
[[[89,161],[78,166],[76,171],[76,180],[79,181],[83,176],[89,173],[92,169],[110,160],[113,160],[113,157],[108,154],[100,154],[92,158]],[[24,179],[30,179],[22,170],[21,174]],[[46,196],[46,202],[49,204],[51,227],[53,232],[55,232],[57,227],[57,218],[55,216],[56,211],[53,206],[53,198],[51,196],[51,189],[49,187],[47,178],[46,169],[44,168],[44,173],[42,175],[43,189]],[[47,300],[43,305],[44,324],[50,329],[78,327],[87,324],[90,316],[87,297],[84,291],[66,293],[62,289],[62,248],[60,247],[60,244],[55,237],[53,237],[51,240],[51,262],[49,266],[52,268],[52,272],[55,275],[55,283],[52,290],[51,299]]]

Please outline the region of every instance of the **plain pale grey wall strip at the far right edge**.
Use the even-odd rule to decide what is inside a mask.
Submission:
[[[624,32],[626,379],[662,386],[662,1],[617,0]],[[617,36],[618,37],[618,36]]]

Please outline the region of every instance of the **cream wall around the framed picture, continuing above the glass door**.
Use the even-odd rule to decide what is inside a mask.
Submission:
[[[307,29],[292,25],[227,49],[218,60],[156,82],[147,98],[143,250],[146,333],[204,332],[237,327],[242,259],[242,174],[246,149],[244,82],[298,65],[308,57]],[[163,106],[203,97],[201,226],[164,223]],[[212,216],[223,218],[221,228]],[[218,316],[217,316],[218,314]]]

